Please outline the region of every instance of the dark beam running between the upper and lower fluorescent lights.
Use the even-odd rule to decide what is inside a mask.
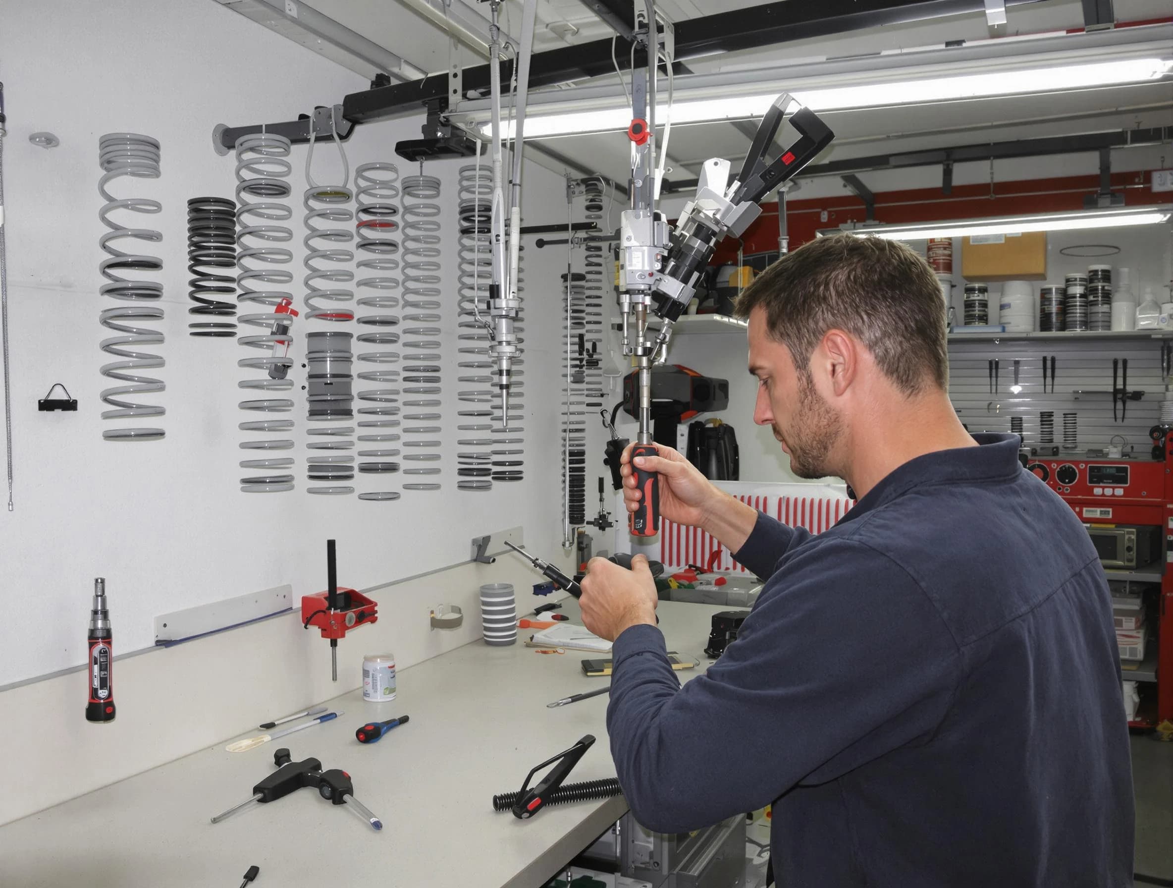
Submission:
[[[1173,140],[1173,127],[1148,127],[1145,129],[1121,129],[1114,133],[1087,133],[1074,136],[1046,136],[1044,138],[1019,138],[1013,142],[986,142],[957,148],[936,148],[928,151],[904,151],[879,154],[870,157],[849,157],[842,161],[813,163],[806,167],[799,178],[819,176],[848,176],[874,170],[897,170],[909,167],[952,165],[977,161],[1002,161],[1012,157],[1040,157],[1057,154],[1084,154],[1112,148],[1160,144]],[[664,182],[665,191],[692,191],[697,179],[673,179]]]

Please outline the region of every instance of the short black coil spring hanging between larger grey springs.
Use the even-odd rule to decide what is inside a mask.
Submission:
[[[232,273],[221,273],[229,269]],[[236,303],[236,202],[226,197],[192,197],[188,201],[188,296],[197,303],[188,314],[197,318],[235,318]],[[232,321],[199,320],[188,324],[190,335],[235,337]]]

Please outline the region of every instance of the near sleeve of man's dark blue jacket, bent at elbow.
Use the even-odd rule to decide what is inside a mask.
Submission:
[[[917,583],[862,543],[806,548],[683,687],[656,626],[616,639],[611,754],[646,828],[687,832],[764,807],[924,741],[948,711],[957,645]]]

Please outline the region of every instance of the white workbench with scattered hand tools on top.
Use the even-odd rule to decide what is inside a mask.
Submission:
[[[700,659],[699,669],[679,673],[682,680],[707,665],[703,649],[710,617],[719,610],[660,604],[669,650]],[[563,612],[578,619],[574,599]],[[404,670],[392,703],[369,704],[359,691],[347,693],[326,701],[346,712],[333,721],[243,753],[225,752],[232,739],[225,738],[0,827],[0,886],[236,888],[252,863],[260,867],[256,888],[541,886],[628,808],[618,797],[549,807],[524,821],[493,811],[494,794],[520,788],[531,767],[584,734],[597,743],[568,782],[615,775],[608,697],[545,705],[603,686],[609,679],[586,678],[579,667],[581,659],[599,655],[537,653],[521,643],[531,631],[518,630],[518,643],[509,648],[477,640]],[[257,721],[282,714],[258,712]],[[400,714],[411,721],[379,743],[354,739],[365,721]],[[313,757],[325,768],[348,772],[355,798],[382,819],[384,829],[373,831],[313,789],[209,822],[252,794],[282,746],[294,760]]]

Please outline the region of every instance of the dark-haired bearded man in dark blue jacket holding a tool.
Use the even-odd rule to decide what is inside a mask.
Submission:
[[[636,819],[674,833],[773,802],[780,886],[1130,886],[1104,571],[1072,510],[1021,468],[1017,438],[957,420],[929,266],[894,242],[826,238],[738,310],[754,421],[795,474],[842,477],[859,502],[812,536],[671,448],[645,461],[665,517],[768,579],[682,689],[646,564],[591,561],[583,621],[615,639],[608,730]]]

